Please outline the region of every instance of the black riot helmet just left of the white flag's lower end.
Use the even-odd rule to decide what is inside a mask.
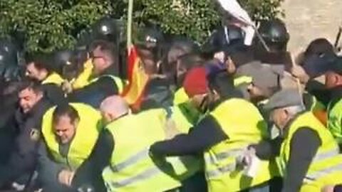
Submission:
[[[228,48],[244,46],[244,33],[237,26],[219,26],[212,32],[202,50],[204,53],[215,53]]]

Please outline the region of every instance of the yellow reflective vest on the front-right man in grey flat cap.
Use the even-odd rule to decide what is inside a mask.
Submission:
[[[309,127],[317,132],[321,139],[321,146],[318,148],[317,154],[309,166],[301,186],[301,191],[318,192],[324,186],[335,186],[341,183],[342,155],[339,154],[338,144],[328,129],[316,119],[312,112],[301,114],[289,127],[289,134],[281,144],[281,153],[278,159],[281,175],[285,174],[286,164],[291,154],[291,139],[294,133],[302,127]]]

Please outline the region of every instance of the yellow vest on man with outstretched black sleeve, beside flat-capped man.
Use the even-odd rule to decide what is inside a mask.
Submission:
[[[276,164],[261,161],[254,178],[244,176],[237,158],[251,144],[266,137],[266,122],[251,102],[229,99],[210,113],[229,139],[204,152],[205,174],[211,192],[242,191],[269,181],[277,174]]]

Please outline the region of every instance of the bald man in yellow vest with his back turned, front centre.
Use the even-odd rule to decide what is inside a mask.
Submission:
[[[180,158],[150,157],[150,144],[172,137],[167,111],[147,110],[130,114],[128,104],[118,96],[101,104],[105,132],[89,161],[76,174],[73,186],[90,185],[95,191],[175,191],[187,173]],[[183,175],[184,173],[184,175]],[[104,185],[97,183],[103,177]]]

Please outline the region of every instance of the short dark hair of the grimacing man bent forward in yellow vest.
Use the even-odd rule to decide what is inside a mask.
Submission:
[[[71,119],[71,122],[75,122],[76,119],[80,119],[80,116],[77,110],[68,104],[61,104],[57,105],[56,109],[53,111],[52,114],[52,122],[56,124],[60,117],[63,115],[68,116]]]

